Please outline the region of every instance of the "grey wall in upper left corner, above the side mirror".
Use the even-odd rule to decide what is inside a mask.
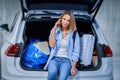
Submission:
[[[0,24],[7,23],[11,27],[17,11],[20,10],[20,0],[0,0]]]

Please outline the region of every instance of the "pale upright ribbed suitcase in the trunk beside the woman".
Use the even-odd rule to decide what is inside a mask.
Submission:
[[[80,41],[80,64],[91,65],[95,37],[91,34],[83,34]]]

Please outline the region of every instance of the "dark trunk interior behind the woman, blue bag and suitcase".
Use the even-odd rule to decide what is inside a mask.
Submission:
[[[24,36],[23,36],[25,42],[24,49],[26,48],[26,45],[30,38],[36,38],[36,39],[39,38],[41,41],[48,41],[50,31],[57,20],[58,20],[57,18],[40,18],[40,19],[30,19],[26,21],[24,28]],[[76,18],[76,25],[80,37],[82,37],[83,34],[91,34],[95,36],[94,50],[96,51],[96,55],[93,56],[92,58],[93,63],[91,63],[91,65],[83,66],[78,63],[77,68],[78,70],[85,70],[85,71],[96,70],[100,67],[101,59],[97,51],[97,37],[93,30],[92,23],[90,20],[85,20],[83,18]],[[21,56],[23,56],[23,54],[24,54],[24,50]],[[27,68],[22,64],[21,67],[25,70],[41,70],[41,69]]]

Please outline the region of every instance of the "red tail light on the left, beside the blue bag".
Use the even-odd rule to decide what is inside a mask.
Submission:
[[[12,44],[7,48],[5,54],[7,56],[15,56],[17,54],[18,50],[19,50],[19,46]]]

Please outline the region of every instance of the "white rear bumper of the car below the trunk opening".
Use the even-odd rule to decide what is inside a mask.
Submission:
[[[7,58],[2,62],[1,80],[47,80],[46,71],[26,71],[20,66],[19,58]],[[95,71],[78,71],[76,76],[68,80],[112,80],[112,58],[102,58],[102,65]]]

